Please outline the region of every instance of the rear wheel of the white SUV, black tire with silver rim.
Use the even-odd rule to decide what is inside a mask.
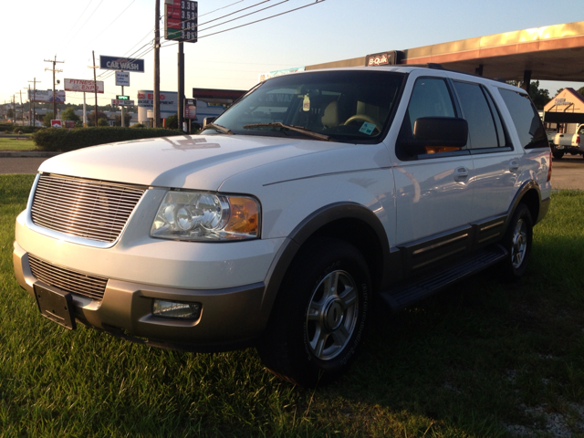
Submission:
[[[533,220],[525,203],[520,203],[509,223],[503,245],[508,255],[503,262],[503,276],[506,280],[515,280],[527,270],[531,244],[533,240]]]

